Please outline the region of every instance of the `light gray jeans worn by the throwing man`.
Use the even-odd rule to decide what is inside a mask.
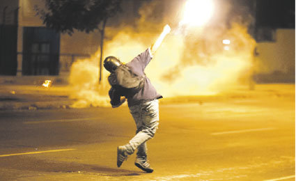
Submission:
[[[132,155],[138,148],[137,157],[147,157],[146,141],[153,138],[159,121],[158,100],[142,102],[129,108],[137,125],[137,132],[125,145],[127,154]]]

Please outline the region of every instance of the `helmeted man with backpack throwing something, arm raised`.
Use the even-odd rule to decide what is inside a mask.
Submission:
[[[108,77],[109,84],[111,84],[109,91],[111,106],[119,107],[127,99],[130,113],[137,125],[136,135],[130,142],[117,148],[118,167],[123,164],[128,155],[132,155],[138,149],[134,164],[143,171],[153,172],[147,159],[146,141],[155,135],[159,121],[158,99],[162,98],[162,95],[157,93],[144,70],[170,31],[169,25],[164,26],[155,44],[129,63],[123,64],[114,56],[104,59],[104,68],[111,73]]]

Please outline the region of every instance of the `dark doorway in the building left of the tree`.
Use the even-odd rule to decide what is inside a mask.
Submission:
[[[59,33],[45,27],[24,27],[23,49],[22,74],[59,74]]]

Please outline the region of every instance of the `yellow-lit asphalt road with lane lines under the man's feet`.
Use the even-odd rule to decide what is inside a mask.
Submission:
[[[0,112],[0,180],[295,180],[295,97],[160,104],[153,173],[120,168],[127,107]]]

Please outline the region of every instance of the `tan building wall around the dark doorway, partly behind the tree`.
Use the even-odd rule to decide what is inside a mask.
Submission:
[[[3,1],[3,0],[1,0]],[[17,0],[14,0],[17,1]],[[134,3],[136,2],[136,3]],[[45,26],[42,23],[42,19],[36,16],[36,10],[34,6],[44,7],[44,1],[40,0],[20,0],[19,1],[19,28],[18,28],[18,42],[17,42],[17,52],[22,52],[22,36],[24,26]],[[1,5],[2,6],[2,5]],[[109,19],[108,26],[116,26],[119,24],[121,19],[132,19],[134,14],[137,13],[137,7],[139,7],[139,2],[134,0],[125,0],[122,7],[123,12],[120,15],[116,15],[112,19]],[[128,23],[128,22],[127,22]],[[100,33],[95,30],[91,33],[84,33],[75,31],[72,36],[68,34],[61,34],[61,54],[94,54],[100,45]],[[76,57],[77,58],[77,57]],[[18,58],[18,74],[22,72],[22,55],[19,54]],[[61,71],[67,70],[68,65],[72,62],[71,56],[61,56],[60,64]]]

